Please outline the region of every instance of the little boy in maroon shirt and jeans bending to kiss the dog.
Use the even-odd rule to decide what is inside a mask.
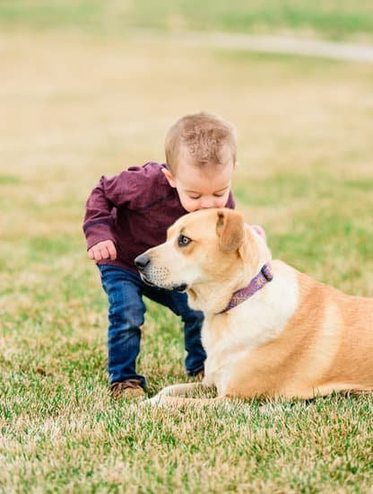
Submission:
[[[186,372],[204,372],[203,313],[188,307],[185,293],[145,285],[134,258],[165,242],[178,217],[206,207],[234,208],[230,182],[236,138],[230,124],[214,115],[186,115],[169,128],[165,151],[165,165],[151,162],[101,177],[86,204],[88,255],[100,269],[108,296],[108,375],[114,399],[144,394],[145,379],[135,370],[143,296],[181,316]]]

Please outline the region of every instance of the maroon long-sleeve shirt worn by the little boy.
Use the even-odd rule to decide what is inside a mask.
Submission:
[[[158,163],[132,166],[114,177],[101,177],[87,199],[83,231],[87,249],[112,240],[116,260],[100,260],[137,272],[134,258],[166,240],[167,229],[187,211]],[[234,208],[230,191],[226,207]]]

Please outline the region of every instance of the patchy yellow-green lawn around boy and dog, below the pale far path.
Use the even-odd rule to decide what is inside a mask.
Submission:
[[[111,401],[107,305],[81,224],[101,174],[162,161],[169,125],[212,110],[238,128],[233,189],[273,257],[372,296],[373,66],[26,24],[0,34],[0,488],[371,491],[371,396]],[[139,371],[152,395],[186,376],[178,319],[148,307]]]

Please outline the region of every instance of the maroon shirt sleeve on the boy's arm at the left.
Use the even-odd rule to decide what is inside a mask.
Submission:
[[[114,177],[100,178],[86,201],[82,229],[87,250],[104,240],[115,241],[115,208],[141,206],[144,192],[152,188],[151,168],[133,166]]]

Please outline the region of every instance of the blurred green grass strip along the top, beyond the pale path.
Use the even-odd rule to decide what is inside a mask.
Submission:
[[[295,32],[341,40],[364,35],[371,39],[373,7],[363,0],[274,0],[216,2],[206,0],[5,0],[0,22],[38,29],[78,27],[88,31],[120,33],[128,28],[162,30],[219,30],[232,32]]]

